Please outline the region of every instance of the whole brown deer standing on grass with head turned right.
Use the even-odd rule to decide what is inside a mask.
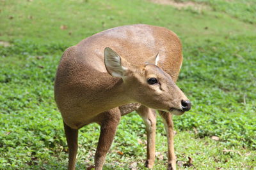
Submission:
[[[168,169],[175,169],[172,114],[182,115],[191,108],[175,85],[181,64],[177,35],[152,25],[115,27],[67,48],[54,94],[68,143],[68,169],[75,169],[78,130],[93,122],[100,125],[95,169],[102,169],[120,117],[134,110],[147,127],[145,166],[154,164],[154,110],[159,110],[168,138]]]

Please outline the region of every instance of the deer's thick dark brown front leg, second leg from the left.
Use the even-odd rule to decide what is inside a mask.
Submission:
[[[100,138],[95,153],[95,170],[101,170],[105,161],[106,154],[115,137],[117,125],[120,122],[120,110],[113,108],[103,112],[100,117]]]

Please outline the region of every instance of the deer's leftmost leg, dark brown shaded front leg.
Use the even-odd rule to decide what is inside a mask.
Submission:
[[[63,124],[68,143],[68,170],[74,170],[76,168],[78,129],[72,129],[65,122]]]

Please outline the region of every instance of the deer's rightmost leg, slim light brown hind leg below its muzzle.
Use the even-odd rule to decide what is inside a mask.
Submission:
[[[167,136],[167,144],[168,144],[168,170],[175,170],[176,169],[176,156],[174,152],[174,145],[173,145],[173,121],[172,121],[172,114],[167,113],[164,111],[159,111],[161,117],[163,118],[164,127]]]

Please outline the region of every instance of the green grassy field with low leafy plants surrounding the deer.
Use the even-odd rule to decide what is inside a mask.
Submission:
[[[256,3],[193,2],[205,8],[142,0],[0,0],[0,169],[67,168],[63,123],[53,97],[61,54],[96,32],[138,23],[167,27],[182,40],[177,84],[193,108],[173,117],[178,168],[255,169]],[[122,117],[104,169],[143,169],[145,134],[136,113]],[[98,138],[98,125],[81,129],[77,169],[93,164]],[[160,118],[156,140],[154,169],[164,169],[167,146]],[[188,157],[191,167],[184,166]]]

